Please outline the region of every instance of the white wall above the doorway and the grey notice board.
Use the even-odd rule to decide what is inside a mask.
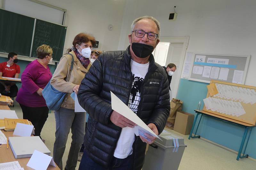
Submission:
[[[169,21],[173,6],[177,6],[177,20]],[[256,86],[255,9],[255,0],[129,0],[124,9],[118,49],[129,45],[127,35],[133,19],[153,16],[161,24],[161,36],[190,36],[187,51],[250,54],[245,84]]]

